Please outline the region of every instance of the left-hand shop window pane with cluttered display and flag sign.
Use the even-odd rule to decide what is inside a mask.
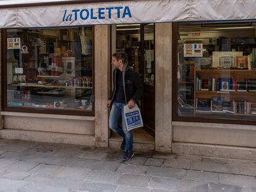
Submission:
[[[6,31],[6,110],[93,112],[92,27]]]

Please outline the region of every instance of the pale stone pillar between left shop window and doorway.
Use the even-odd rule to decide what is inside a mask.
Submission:
[[[95,25],[95,146],[108,147],[108,101],[110,91],[110,26]]]

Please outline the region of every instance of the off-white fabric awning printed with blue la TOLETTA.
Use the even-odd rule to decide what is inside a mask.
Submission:
[[[15,7],[15,2],[19,1],[9,1],[11,8],[0,9],[0,28],[256,19],[256,0],[113,1],[36,7]],[[0,1],[3,6],[8,6],[8,1]]]

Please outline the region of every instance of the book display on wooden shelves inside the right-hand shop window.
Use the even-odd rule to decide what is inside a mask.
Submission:
[[[179,33],[179,115],[256,119],[255,38],[221,36],[215,41],[203,34],[204,39],[194,40],[182,37],[182,30]],[[202,44],[202,57],[187,56],[184,49],[188,44]],[[189,86],[192,90],[184,92],[184,87]]]

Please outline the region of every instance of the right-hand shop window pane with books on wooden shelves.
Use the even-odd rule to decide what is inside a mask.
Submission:
[[[255,122],[255,23],[181,23],[176,29],[174,119]]]

